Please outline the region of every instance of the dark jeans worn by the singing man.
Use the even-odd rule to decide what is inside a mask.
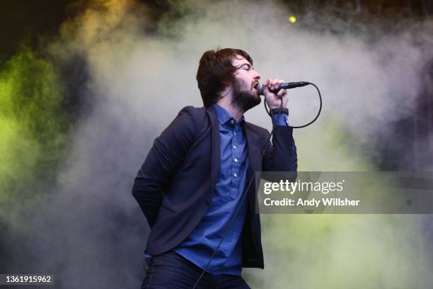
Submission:
[[[192,289],[202,269],[175,251],[144,259],[142,289]],[[197,289],[250,289],[241,276],[205,272]]]

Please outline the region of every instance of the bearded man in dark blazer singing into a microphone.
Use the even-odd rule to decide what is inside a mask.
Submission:
[[[195,288],[250,288],[242,267],[264,268],[255,181],[248,183],[255,171],[296,171],[297,157],[287,91],[278,90],[283,80],[263,84],[272,144],[265,147],[270,132],[243,116],[261,101],[259,79],[243,50],[202,55],[204,107],[180,111],[154,141],[132,188],[151,228],[142,288],[191,289],[199,279]]]

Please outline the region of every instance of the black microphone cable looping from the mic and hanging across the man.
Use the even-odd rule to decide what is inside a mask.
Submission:
[[[322,96],[321,96],[321,91],[318,89],[318,87],[316,86],[316,84],[313,84],[313,83],[307,82],[307,81],[292,82],[292,83],[289,83],[289,85],[291,85],[291,87],[286,87],[286,88],[287,89],[294,89],[296,87],[306,86],[308,84],[311,84],[312,86],[316,87],[316,89],[317,89],[318,96],[319,96],[319,101],[321,103],[321,105],[319,107],[319,110],[318,110],[318,113],[317,113],[316,117],[313,120],[311,120],[311,122],[307,123],[306,125],[292,126],[291,128],[306,128],[308,125],[311,125],[312,123],[314,123],[318,119],[319,115],[321,114],[321,111],[322,111]],[[280,98],[280,101],[281,101],[280,108],[282,108],[283,107],[283,105],[282,105],[282,98]],[[269,116],[271,116],[271,114],[270,114],[270,112],[269,112],[269,110],[267,109],[267,106],[266,106],[266,99],[265,99],[265,101],[263,101],[263,103],[265,104],[265,110],[266,110],[267,114]],[[270,132],[269,137],[267,137],[267,140],[266,140],[266,143],[265,143],[265,147],[263,147],[263,149],[260,150],[260,154],[261,154],[260,161],[261,162],[263,161],[263,157],[265,156],[265,152],[266,152],[267,146],[269,145],[270,138],[272,137],[272,132],[274,132],[274,128],[275,128],[275,126],[272,125],[272,130]],[[200,283],[200,280],[202,280],[204,272],[206,272],[206,269],[209,268],[212,260],[214,259],[215,254],[217,254],[217,251],[219,250],[219,247],[221,246],[222,242],[224,242],[224,239],[226,239],[227,234],[229,233],[229,231],[231,229],[231,226],[233,225],[233,222],[234,222],[236,216],[238,215],[239,210],[241,210],[243,201],[245,200],[245,197],[248,195],[248,190],[249,190],[249,188],[251,186],[251,183],[253,183],[253,179],[254,179],[254,176],[250,179],[250,181],[248,183],[248,186],[246,187],[245,193],[242,196],[242,200],[239,203],[238,208],[236,209],[236,212],[234,213],[233,217],[231,217],[229,225],[227,225],[226,232],[224,232],[224,235],[221,238],[221,241],[219,241],[217,247],[214,249],[214,253],[212,253],[212,256],[209,258],[209,261],[207,261],[206,267],[203,269],[202,273],[200,274],[200,277],[197,279],[197,281],[195,282],[195,285],[194,285],[194,287],[192,287],[192,289],[196,289],[197,288],[198,283]]]

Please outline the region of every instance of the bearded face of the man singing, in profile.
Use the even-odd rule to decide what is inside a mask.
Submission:
[[[236,58],[231,63],[234,67],[237,67],[234,74],[235,80],[232,84],[233,106],[241,108],[242,111],[248,111],[248,109],[257,106],[261,101],[257,92],[260,74],[241,55],[236,55]]]

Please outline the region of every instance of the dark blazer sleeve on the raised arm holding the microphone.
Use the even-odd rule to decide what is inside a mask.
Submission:
[[[269,137],[270,132],[267,132]],[[289,126],[275,126],[272,132],[272,143],[265,149],[262,160],[263,171],[288,171],[284,179],[295,181],[298,170],[298,157],[293,138],[293,128]],[[282,179],[282,178],[277,178]],[[275,180],[277,181],[277,180]]]

